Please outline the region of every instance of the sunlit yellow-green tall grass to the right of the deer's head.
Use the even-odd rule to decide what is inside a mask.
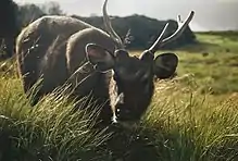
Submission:
[[[218,99],[191,89],[166,83],[146,115],[162,160],[237,160],[238,95]]]

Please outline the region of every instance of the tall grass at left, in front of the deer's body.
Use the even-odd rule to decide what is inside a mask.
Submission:
[[[97,154],[97,147],[110,133],[90,131],[93,115],[85,110],[75,112],[66,98],[53,95],[33,108],[22,92],[20,79],[1,78],[0,88],[0,144],[4,145],[1,160],[103,158]]]

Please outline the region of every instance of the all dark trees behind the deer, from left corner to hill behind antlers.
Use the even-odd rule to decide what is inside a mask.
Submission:
[[[33,3],[17,5],[12,0],[0,0],[0,39],[4,40],[4,50],[8,57],[13,54],[15,38],[21,29],[38,17],[48,14],[62,15],[64,13],[57,2],[48,2],[39,7]],[[104,29],[101,16],[72,16]],[[165,36],[170,36],[177,28],[177,23],[175,21],[168,21],[168,32]],[[126,17],[115,16],[112,18],[113,28],[118,33],[122,39],[128,38],[129,30],[130,44],[127,44],[127,48],[129,49],[145,49],[150,47],[160,35],[166,22],[167,21],[158,21],[138,14]],[[195,34],[187,27],[176,41],[164,46],[164,48],[174,49],[193,42],[196,42]]]

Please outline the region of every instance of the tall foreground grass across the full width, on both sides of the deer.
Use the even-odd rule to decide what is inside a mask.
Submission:
[[[100,131],[90,128],[95,115],[75,112],[64,97],[49,95],[33,108],[17,77],[0,83],[1,160],[237,159],[238,96],[200,95],[192,76],[158,82],[135,128]]]

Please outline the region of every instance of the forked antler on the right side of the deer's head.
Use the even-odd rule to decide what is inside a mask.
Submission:
[[[154,53],[160,47],[162,47],[165,44],[168,44],[168,42],[175,40],[176,38],[178,38],[184,33],[184,30],[186,29],[188,24],[191,22],[193,15],[195,15],[195,11],[191,11],[184,23],[180,20],[180,15],[178,15],[178,17],[177,17],[177,23],[178,23],[177,30],[174,34],[172,34],[170,37],[166,37],[166,38],[163,39],[163,36],[164,36],[164,34],[165,34],[165,32],[168,27],[168,23],[166,23],[163,30],[162,30],[162,33],[161,33],[161,35],[158,37],[155,42],[150,47],[149,51]]]

